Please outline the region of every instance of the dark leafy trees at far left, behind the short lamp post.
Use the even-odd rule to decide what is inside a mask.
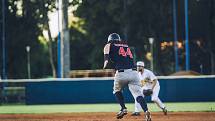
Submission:
[[[6,0],[8,78],[27,78],[26,46],[31,47],[32,78],[50,74],[50,64],[46,61],[48,60],[48,49],[38,39],[42,35],[40,25],[45,24],[43,19],[48,13],[41,9],[43,2],[46,7],[53,6],[54,3],[51,0]]]

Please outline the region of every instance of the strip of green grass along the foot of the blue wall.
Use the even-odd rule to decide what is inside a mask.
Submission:
[[[215,111],[215,102],[165,103],[169,111]],[[134,104],[126,104],[129,111]],[[161,111],[155,103],[149,103],[152,112]],[[0,114],[16,113],[70,113],[70,112],[117,112],[118,104],[70,104],[70,105],[1,105]]]

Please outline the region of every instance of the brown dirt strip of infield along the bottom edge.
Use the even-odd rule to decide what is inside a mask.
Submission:
[[[145,121],[144,115],[116,119],[115,113],[0,114],[0,121]],[[152,113],[152,121],[215,121],[215,112]]]

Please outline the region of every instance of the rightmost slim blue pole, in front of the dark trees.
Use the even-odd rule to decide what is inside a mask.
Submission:
[[[190,70],[189,52],[189,21],[188,21],[188,0],[184,0],[185,11],[185,48],[186,48],[186,71]]]

